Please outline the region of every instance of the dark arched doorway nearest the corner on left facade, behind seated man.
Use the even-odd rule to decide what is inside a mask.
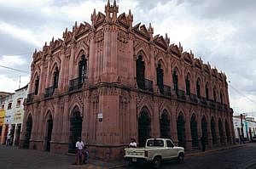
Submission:
[[[73,114],[70,119],[70,135],[69,135],[69,144],[68,144],[68,152],[75,153],[76,152],[76,142],[82,136],[82,117],[78,108],[73,110]]]

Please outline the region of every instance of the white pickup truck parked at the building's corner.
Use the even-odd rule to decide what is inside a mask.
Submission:
[[[176,147],[171,139],[149,138],[144,148],[125,149],[125,160],[151,162],[154,168],[159,168],[161,161],[176,159],[181,163],[184,159],[184,148]]]

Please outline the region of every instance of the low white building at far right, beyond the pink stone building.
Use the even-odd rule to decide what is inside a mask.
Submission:
[[[247,141],[251,141],[252,137],[256,136],[256,121],[253,117],[246,117],[245,115],[234,115],[233,123],[236,142],[240,141],[240,135],[243,135]]]

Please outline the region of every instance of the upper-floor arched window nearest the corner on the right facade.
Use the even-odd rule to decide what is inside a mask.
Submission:
[[[136,79],[137,86],[141,89],[145,88],[145,63],[141,55],[136,60]]]

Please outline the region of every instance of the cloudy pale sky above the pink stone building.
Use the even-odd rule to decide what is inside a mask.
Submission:
[[[104,14],[107,0],[0,0],[0,91],[15,92],[29,82],[32,53],[52,37],[61,38],[75,21]],[[110,1],[113,3],[113,0]],[[119,14],[133,24],[152,24],[154,35],[181,42],[196,58],[223,71],[235,113],[256,116],[256,1],[117,0]],[[7,66],[22,72],[9,70]],[[253,113],[252,113],[253,112]]]

